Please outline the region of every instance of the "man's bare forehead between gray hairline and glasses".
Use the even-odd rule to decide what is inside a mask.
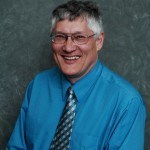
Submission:
[[[92,33],[92,30],[88,27],[86,19],[77,18],[73,21],[68,19],[58,21],[55,24],[55,32],[64,32],[64,33]]]

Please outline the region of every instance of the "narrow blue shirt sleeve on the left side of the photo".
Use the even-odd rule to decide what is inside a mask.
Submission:
[[[32,82],[29,84],[24,101],[21,106],[20,114],[17,119],[17,122],[15,124],[15,128],[12,132],[12,135],[9,139],[9,142],[7,144],[6,150],[26,150],[26,138],[25,138],[25,120],[26,120],[26,114],[28,111],[28,104],[30,99],[32,89]]]

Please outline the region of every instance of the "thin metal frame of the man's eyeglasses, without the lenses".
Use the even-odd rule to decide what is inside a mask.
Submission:
[[[75,44],[77,44],[77,45],[83,45],[83,44],[87,44],[88,41],[89,41],[89,38],[95,36],[96,34],[97,34],[97,33],[94,33],[94,34],[92,34],[92,35],[79,34],[80,36],[83,35],[83,36],[87,39],[86,42],[81,43],[81,44],[75,41],[75,37],[74,37],[74,36],[75,36],[75,35],[78,35],[78,33],[74,33],[74,34],[71,34],[71,35],[67,35],[67,34],[65,34],[65,33],[52,33],[52,34],[50,35],[50,37],[52,38],[52,39],[51,39],[52,42],[55,43],[55,44],[64,44],[65,42],[67,42],[68,37],[71,37],[71,40],[72,40]],[[53,37],[56,37],[56,35],[63,35],[64,38],[65,38],[64,42],[60,42],[60,43],[55,42],[55,40],[53,39]]]

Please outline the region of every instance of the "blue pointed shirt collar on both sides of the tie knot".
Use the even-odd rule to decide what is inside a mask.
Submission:
[[[93,68],[80,80],[75,82],[72,87],[77,97],[77,101],[81,102],[83,99],[86,99],[85,96],[88,94],[89,90],[96,83],[97,79],[100,77],[102,72],[102,64],[97,60]],[[63,100],[66,100],[67,89],[71,86],[71,83],[67,80],[65,75],[62,74],[62,95]]]

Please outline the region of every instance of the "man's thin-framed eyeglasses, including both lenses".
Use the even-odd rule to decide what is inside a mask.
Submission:
[[[85,34],[72,34],[72,35],[67,35],[67,34],[62,34],[62,33],[56,33],[56,34],[52,34],[52,42],[55,44],[64,44],[67,40],[68,37],[71,37],[71,40],[78,44],[78,45],[82,45],[82,44],[86,44],[89,40],[90,37],[94,36],[96,34],[92,34],[92,35],[85,35]]]

